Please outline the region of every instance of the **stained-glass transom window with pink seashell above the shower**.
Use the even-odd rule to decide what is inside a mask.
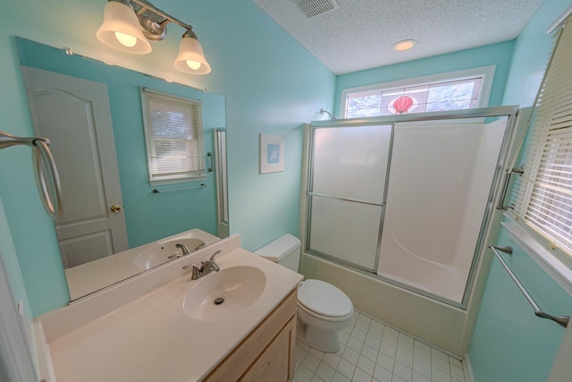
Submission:
[[[494,66],[342,91],[345,118],[486,106]]]

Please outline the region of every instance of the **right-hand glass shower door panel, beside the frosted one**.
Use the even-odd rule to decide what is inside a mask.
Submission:
[[[460,304],[508,117],[396,123],[377,274]]]

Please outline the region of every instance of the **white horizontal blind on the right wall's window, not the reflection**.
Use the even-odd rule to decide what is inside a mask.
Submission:
[[[525,141],[525,171],[514,209],[553,246],[572,254],[572,21],[555,45]]]

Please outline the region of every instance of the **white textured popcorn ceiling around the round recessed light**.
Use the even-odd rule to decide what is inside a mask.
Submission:
[[[516,38],[543,0],[337,0],[310,19],[292,0],[253,0],[336,74]],[[417,45],[397,52],[404,39]]]

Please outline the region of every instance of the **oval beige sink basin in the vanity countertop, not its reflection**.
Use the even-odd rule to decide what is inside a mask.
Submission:
[[[183,310],[198,321],[220,321],[247,309],[265,290],[257,267],[228,267],[203,276],[187,294]]]

